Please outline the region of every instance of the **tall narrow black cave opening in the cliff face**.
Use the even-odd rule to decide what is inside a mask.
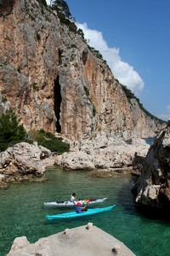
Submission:
[[[60,105],[61,105],[62,97],[60,92],[60,84],[59,84],[59,76],[54,80],[54,113],[57,118],[56,121],[56,131],[61,132],[61,125],[59,124],[60,118]]]

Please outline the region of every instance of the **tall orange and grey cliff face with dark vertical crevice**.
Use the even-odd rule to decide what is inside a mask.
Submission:
[[[10,3],[9,3],[10,2]],[[161,125],[127,101],[105,61],[36,0],[0,1],[0,106],[26,130],[70,139],[152,137]]]

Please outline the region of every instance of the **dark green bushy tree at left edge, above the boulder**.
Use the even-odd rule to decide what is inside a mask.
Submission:
[[[0,150],[4,151],[16,143],[24,141],[26,131],[12,108],[0,115]]]

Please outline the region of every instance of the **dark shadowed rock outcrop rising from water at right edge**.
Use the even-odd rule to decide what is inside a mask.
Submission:
[[[170,209],[170,122],[150,146],[133,193],[137,204]]]

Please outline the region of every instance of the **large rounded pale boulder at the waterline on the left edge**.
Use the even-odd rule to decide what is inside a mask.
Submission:
[[[38,147],[35,143],[18,143],[0,153],[1,181],[25,178],[26,175],[42,176],[45,168],[42,159],[48,157],[48,148]]]

